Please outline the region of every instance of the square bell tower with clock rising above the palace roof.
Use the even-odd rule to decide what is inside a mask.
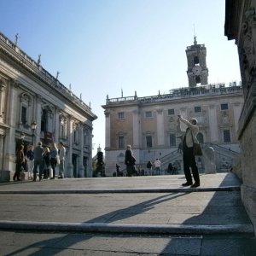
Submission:
[[[205,44],[197,44],[194,37],[194,44],[186,49],[188,59],[189,87],[208,84],[207,48]]]

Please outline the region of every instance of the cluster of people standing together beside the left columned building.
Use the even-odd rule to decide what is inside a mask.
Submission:
[[[55,167],[59,164],[59,178],[64,177],[64,160],[65,160],[66,148],[61,142],[58,144],[58,148],[55,143],[51,143],[50,148],[48,146],[43,147],[39,142],[34,148],[32,145],[28,147],[28,150],[24,152],[24,145],[21,144],[16,151],[16,166],[14,181],[20,181],[20,172],[27,171],[28,179],[36,181],[39,177],[39,181],[44,179],[55,179]],[[50,172],[52,170],[52,173]],[[39,171],[39,175],[38,175]]]

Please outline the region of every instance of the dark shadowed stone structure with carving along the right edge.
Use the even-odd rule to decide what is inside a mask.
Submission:
[[[256,233],[256,1],[226,0],[224,34],[235,39],[241,70],[244,106],[238,123],[241,166],[241,199]]]

